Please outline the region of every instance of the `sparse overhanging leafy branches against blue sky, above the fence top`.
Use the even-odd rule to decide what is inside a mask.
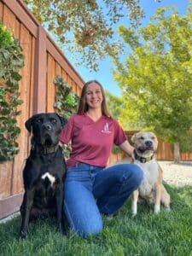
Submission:
[[[153,0],[151,0],[153,1]],[[105,55],[118,55],[113,25],[128,16],[136,26],[143,16],[138,0],[25,0],[37,19],[73,54],[96,70]]]

